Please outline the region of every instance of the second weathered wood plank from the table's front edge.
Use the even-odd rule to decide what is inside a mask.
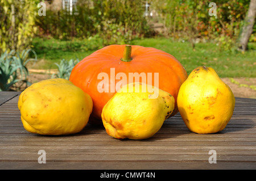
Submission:
[[[49,151],[48,151],[49,152]],[[47,152],[47,153],[48,153]],[[129,155],[129,156],[128,156]],[[38,154],[13,154],[13,155],[0,155],[2,161],[15,161],[19,159],[20,161],[37,161]],[[209,154],[201,155],[176,155],[176,154],[101,154],[101,155],[91,155],[91,154],[47,154],[47,161],[115,161],[115,162],[174,162],[174,161],[203,161],[208,162]],[[218,155],[218,161],[238,161],[238,162],[252,162],[256,163],[256,155]]]

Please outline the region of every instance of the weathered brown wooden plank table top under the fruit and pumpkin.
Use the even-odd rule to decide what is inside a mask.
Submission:
[[[232,119],[218,133],[192,133],[177,113],[147,140],[117,140],[102,125],[69,136],[27,132],[19,94],[0,92],[0,169],[256,169],[256,99],[236,98]],[[39,163],[39,150],[46,163]]]

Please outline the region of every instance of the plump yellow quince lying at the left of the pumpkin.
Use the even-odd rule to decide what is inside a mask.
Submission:
[[[92,107],[86,92],[62,78],[32,84],[18,100],[23,127],[38,134],[78,133],[88,123]]]

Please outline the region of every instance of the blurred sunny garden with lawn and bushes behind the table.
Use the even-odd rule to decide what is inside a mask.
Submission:
[[[255,9],[256,0],[0,0],[0,90],[68,79],[97,49],[131,44],[172,54],[188,74],[210,66],[235,96],[256,98]]]

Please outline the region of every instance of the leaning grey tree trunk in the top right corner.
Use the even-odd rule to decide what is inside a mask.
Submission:
[[[241,39],[240,39],[240,49],[243,52],[247,49],[249,38],[251,36],[251,33],[253,32],[255,16],[256,16],[256,0],[251,0],[249,10],[244,21],[245,24],[243,24]]]

